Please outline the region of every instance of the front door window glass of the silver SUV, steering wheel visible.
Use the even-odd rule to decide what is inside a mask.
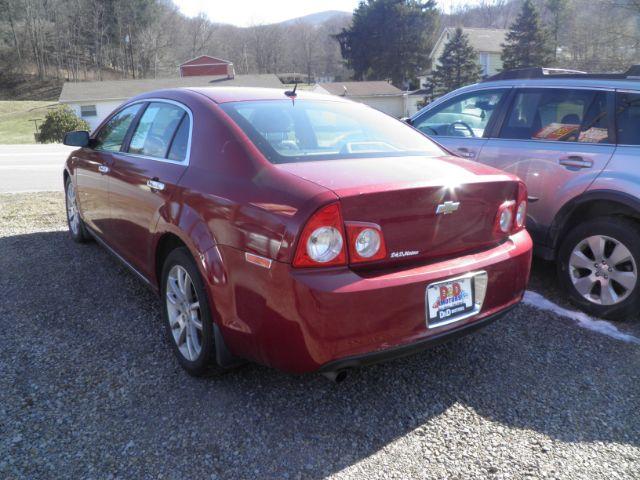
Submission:
[[[452,98],[418,117],[413,126],[427,135],[482,137],[507,90],[481,90]]]

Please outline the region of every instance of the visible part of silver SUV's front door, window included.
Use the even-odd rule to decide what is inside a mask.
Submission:
[[[461,157],[476,158],[510,87],[474,90],[427,106],[411,124]]]

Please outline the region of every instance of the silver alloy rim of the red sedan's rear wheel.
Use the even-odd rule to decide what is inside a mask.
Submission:
[[[180,265],[169,270],[166,297],[173,340],[180,354],[193,362],[202,351],[202,315],[193,281]]]

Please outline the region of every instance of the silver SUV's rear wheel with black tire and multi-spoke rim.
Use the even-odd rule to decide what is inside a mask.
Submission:
[[[558,251],[557,272],[570,300],[610,320],[640,309],[640,225],[622,217],[599,217],[574,227]]]

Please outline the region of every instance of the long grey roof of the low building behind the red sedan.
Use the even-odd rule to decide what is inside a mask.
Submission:
[[[65,82],[60,103],[106,100],[126,100],[145,92],[179,87],[263,87],[282,88],[282,82],[272,73],[259,75],[225,75],[214,77],[150,78],[140,80],[109,80],[104,82]]]

